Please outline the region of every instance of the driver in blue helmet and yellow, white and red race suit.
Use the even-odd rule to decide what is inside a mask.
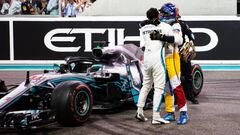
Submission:
[[[181,85],[180,75],[180,57],[178,54],[178,46],[182,44],[182,31],[181,26],[177,22],[177,8],[172,3],[164,4],[160,9],[160,21],[166,22],[172,26],[172,30],[174,33],[174,43],[169,44],[166,43],[167,47],[165,50],[165,62],[166,69],[168,73],[169,83],[170,83],[170,92],[167,92],[165,95],[165,104],[166,104],[166,112],[164,119],[168,121],[175,120],[175,108],[174,108],[174,96],[177,99],[178,110],[180,111],[180,117],[177,120],[177,124],[183,125],[188,122],[188,114],[187,114],[187,102],[186,97],[183,91],[183,87]],[[151,38],[153,40],[161,40],[163,37],[160,33],[152,34]]]

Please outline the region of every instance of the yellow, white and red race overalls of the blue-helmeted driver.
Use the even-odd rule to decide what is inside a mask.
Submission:
[[[170,91],[165,94],[166,112],[174,112],[174,96],[177,97],[177,106],[179,111],[187,111],[187,102],[180,80],[180,57],[178,54],[178,45],[183,42],[181,26],[179,23],[172,25],[174,33],[174,44],[169,44],[166,48],[165,63],[170,83]]]

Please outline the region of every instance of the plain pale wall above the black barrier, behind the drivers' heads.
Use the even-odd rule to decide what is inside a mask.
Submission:
[[[235,16],[237,0],[97,0],[82,15],[87,16],[143,16],[150,7],[160,8],[172,2],[184,16]]]

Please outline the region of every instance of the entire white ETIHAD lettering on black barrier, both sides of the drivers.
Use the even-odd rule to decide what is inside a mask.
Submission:
[[[197,52],[210,51],[218,44],[217,34],[208,28],[191,28],[194,33],[204,33],[210,37],[210,41],[206,45],[196,46]],[[78,52],[84,46],[84,52],[92,51],[92,35],[93,34],[108,34],[108,46],[116,46],[124,44],[127,41],[139,41],[140,46],[144,45],[142,34],[139,31],[139,35],[136,36],[124,36],[125,28],[57,28],[49,31],[44,37],[45,46],[54,52]],[[58,34],[65,34],[66,36],[57,36]],[[66,42],[72,43],[76,40],[76,36],[73,34],[84,34],[85,43],[76,45],[75,47],[60,47],[54,45],[54,43]],[[116,44],[115,44],[116,43]]]

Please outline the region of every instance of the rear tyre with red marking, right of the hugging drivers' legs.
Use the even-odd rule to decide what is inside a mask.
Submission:
[[[197,97],[203,87],[203,72],[201,67],[198,64],[193,65],[192,70],[192,87],[193,87],[193,93]]]

